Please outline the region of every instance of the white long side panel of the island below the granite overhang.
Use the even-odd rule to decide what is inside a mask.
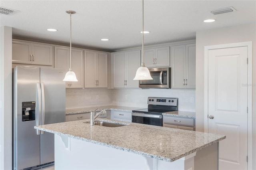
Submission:
[[[194,170],[194,156],[166,162],[55,134],[55,170]]]

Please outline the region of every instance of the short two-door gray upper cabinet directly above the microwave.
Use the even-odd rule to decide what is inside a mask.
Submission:
[[[144,63],[146,67],[170,67],[170,47],[144,49]]]

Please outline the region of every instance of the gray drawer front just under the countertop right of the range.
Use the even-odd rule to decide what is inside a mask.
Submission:
[[[194,127],[194,119],[164,116],[163,124],[186,125]]]

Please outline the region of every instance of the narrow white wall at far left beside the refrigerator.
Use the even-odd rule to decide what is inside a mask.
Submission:
[[[0,28],[0,169],[12,169],[12,28]]]

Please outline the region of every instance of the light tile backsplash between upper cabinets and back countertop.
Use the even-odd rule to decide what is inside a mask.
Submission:
[[[196,110],[195,89],[66,89],[66,109],[94,106],[148,107],[148,97],[178,97],[179,111]]]

